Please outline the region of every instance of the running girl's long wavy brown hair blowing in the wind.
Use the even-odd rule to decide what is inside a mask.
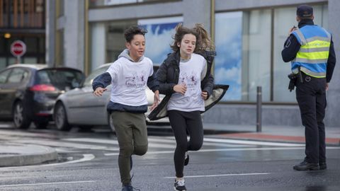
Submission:
[[[203,24],[196,23],[194,28],[186,28],[182,23],[176,25],[176,34],[174,35],[174,43],[170,45],[174,52],[179,51],[179,46],[181,44],[183,36],[186,34],[192,34],[196,36],[196,47],[193,52],[203,52],[205,50],[215,50],[215,45],[210,39],[207,30],[203,27]]]

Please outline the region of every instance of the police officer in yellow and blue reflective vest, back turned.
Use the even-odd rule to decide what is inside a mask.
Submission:
[[[295,82],[302,125],[305,126],[305,160],[295,170],[326,169],[324,113],[326,91],[334,71],[336,57],[332,37],[327,30],[314,25],[313,8],[297,7],[298,28],[291,28],[281,52],[283,61],[290,62]]]

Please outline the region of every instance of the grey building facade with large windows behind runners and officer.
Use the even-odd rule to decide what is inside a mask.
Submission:
[[[314,23],[333,34],[340,54],[340,1],[336,0],[91,0],[47,1],[47,63],[89,74],[114,62],[125,48],[123,31],[141,25],[147,57],[161,64],[171,52],[178,23],[203,23],[215,42],[215,83],[229,84],[225,98],[203,116],[205,122],[256,125],[256,88],[262,87],[263,125],[300,126],[295,92],[288,91],[290,63],[280,52],[288,30],[297,25],[296,6],[314,8]],[[339,57],[339,56],[338,56]],[[327,92],[327,126],[340,127],[340,68]]]

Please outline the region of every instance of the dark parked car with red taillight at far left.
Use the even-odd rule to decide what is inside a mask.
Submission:
[[[57,97],[84,81],[78,69],[46,64],[13,64],[0,71],[0,119],[21,129],[45,128]]]

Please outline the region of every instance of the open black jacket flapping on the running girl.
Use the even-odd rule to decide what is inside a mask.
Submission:
[[[215,85],[214,78],[211,75],[211,66],[215,58],[216,52],[200,52],[198,53],[207,60],[207,67],[205,68],[205,76],[201,76],[201,89],[208,92],[208,99],[205,100],[205,111],[215,105],[229,88],[228,85]],[[159,67],[156,73],[159,93],[165,94],[162,102],[159,103],[150,114],[150,120],[159,120],[167,116],[166,105],[168,104],[172,93],[175,93],[174,86],[179,83],[179,62],[181,57],[179,52],[169,54]]]

